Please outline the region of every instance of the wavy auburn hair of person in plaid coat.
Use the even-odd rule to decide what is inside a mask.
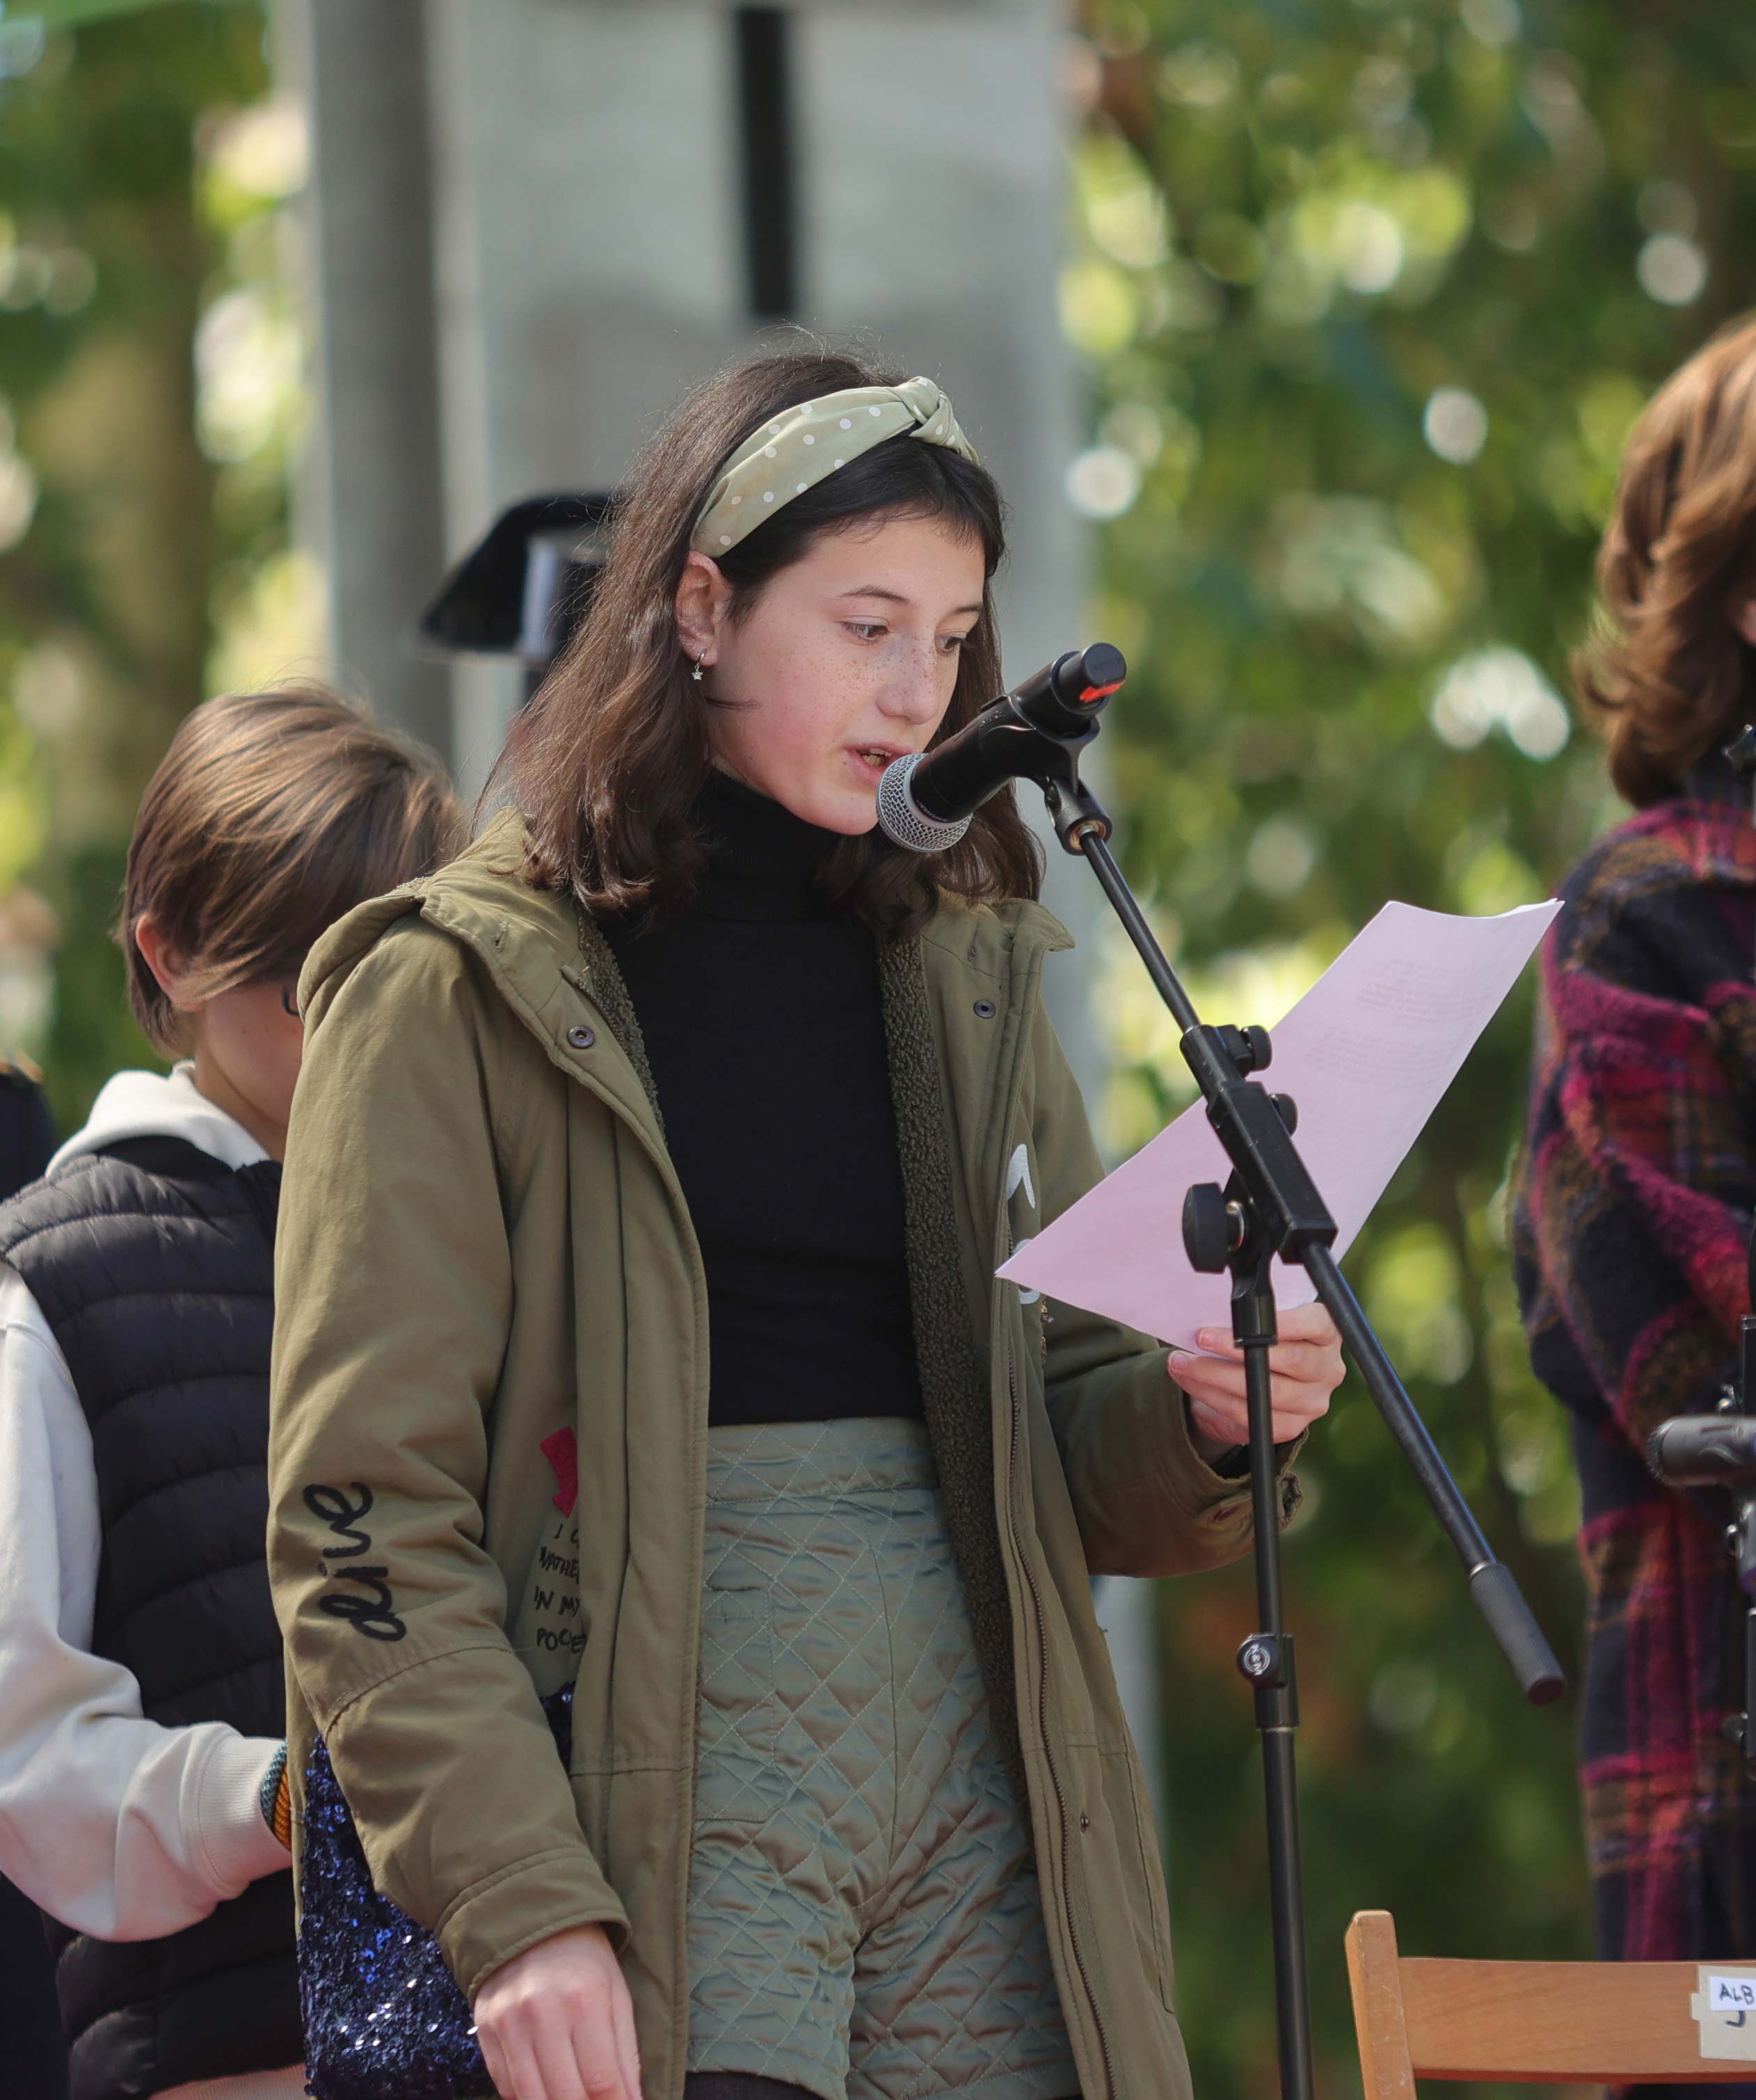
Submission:
[[[1634,424],[1596,580],[1605,632],[1573,676],[1611,779],[1645,808],[1750,712],[1733,603],[1756,592],[1756,323],[1691,357]]]

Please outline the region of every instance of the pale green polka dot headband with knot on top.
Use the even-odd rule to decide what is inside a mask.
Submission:
[[[794,496],[802,496],[838,466],[846,466],[889,437],[949,445],[952,452],[975,460],[975,447],[958,428],[952,403],[933,380],[849,386],[817,401],[802,401],[748,437],[708,489],[689,546],[697,554],[725,554],[781,504],[790,504]]]

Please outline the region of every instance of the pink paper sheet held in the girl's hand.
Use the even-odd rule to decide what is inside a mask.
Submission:
[[[1559,909],[1550,901],[1500,918],[1451,918],[1388,903],[1273,1031],[1264,1086],[1298,1102],[1298,1149],[1340,1226],[1338,1256]],[[998,1275],[1193,1348],[1197,1327],[1231,1327],[1231,1279],[1189,1266],[1183,1197],[1191,1182],[1225,1182],[1227,1174],[1206,1107],[1195,1102]],[[1279,1306],[1313,1296],[1302,1268],[1275,1262]]]

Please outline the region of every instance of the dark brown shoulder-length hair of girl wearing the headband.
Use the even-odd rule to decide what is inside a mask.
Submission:
[[[618,496],[590,613],[515,722],[496,769],[494,783],[523,811],[536,886],[571,890],[588,911],[605,914],[662,916],[689,899],[706,861],[693,806],[708,777],[716,706],[689,676],[676,636],[676,586],[695,517],[731,454],[781,410],[844,386],[895,386],[901,376],[823,351],[752,357],[697,386],[645,445]],[[819,533],[882,517],[931,517],[977,540],[989,582],[1006,550],[994,479],[943,445],[893,437],[718,556],[733,586],[731,620],[748,617],[762,586]],[[935,741],[998,691],[1000,643],[983,588]],[[928,859],[867,832],[840,840],[819,874],[828,897],[891,937],[918,930],[941,895],[1036,897],[1040,880],[1042,855],[1010,792],[985,802],[949,853]]]

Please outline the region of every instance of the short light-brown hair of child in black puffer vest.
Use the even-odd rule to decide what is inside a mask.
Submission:
[[[204,701],[170,739],[128,844],[118,939],[134,1018],[166,1056],[187,1048],[134,939],[145,916],[206,1000],[296,976],[344,911],[462,842],[439,760],[328,687]]]

